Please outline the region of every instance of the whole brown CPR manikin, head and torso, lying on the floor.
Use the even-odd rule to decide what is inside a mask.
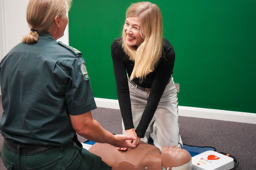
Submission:
[[[191,170],[191,156],[185,149],[176,145],[163,146],[161,151],[140,141],[135,149],[119,151],[106,143],[95,143],[90,152],[100,156],[112,170]]]

